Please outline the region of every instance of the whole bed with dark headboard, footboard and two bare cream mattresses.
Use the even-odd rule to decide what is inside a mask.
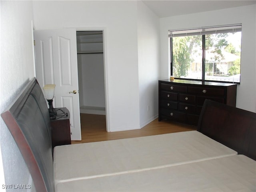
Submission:
[[[1,116],[37,191],[256,191],[253,112],[206,100],[197,131],[52,149],[33,78]]]

